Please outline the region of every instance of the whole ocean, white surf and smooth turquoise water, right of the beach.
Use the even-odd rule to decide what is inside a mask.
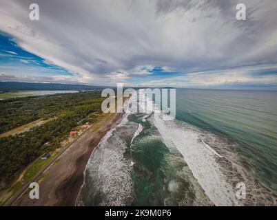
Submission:
[[[123,115],[90,157],[79,205],[276,205],[277,91],[177,89],[176,119],[162,116]]]

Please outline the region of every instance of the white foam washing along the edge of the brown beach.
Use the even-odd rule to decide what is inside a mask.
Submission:
[[[131,96],[124,103],[126,111],[121,122],[104,135],[98,146],[94,148],[85,168],[86,182],[84,182],[83,188],[87,187],[86,192],[89,191],[90,195],[82,196],[93,199],[95,193],[101,195],[99,206],[126,206],[134,200],[132,166],[130,166],[134,162],[124,157],[127,145],[121,138],[121,133],[124,132],[125,136],[132,137],[131,142],[133,142],[134,138],[143,130],[141,124],[137,128],[137,124],[132,124],[128,120],[128,116],[135,108],[126,108],[132,102],[132,98],[134,97]],[[93,192],[90,191],[90,188]],[[80,198],[79,200],[84,199]],[[80,201],[79,204],[81,204]]]

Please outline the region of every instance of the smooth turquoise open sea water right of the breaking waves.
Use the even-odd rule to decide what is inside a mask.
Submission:
[[[277,192],[277,91],[179,89],[176,119],[238,143],[240,157]]]

